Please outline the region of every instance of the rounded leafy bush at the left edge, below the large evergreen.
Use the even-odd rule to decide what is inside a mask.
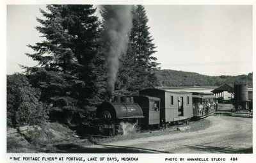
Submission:
[[[7,75],[7,125],[20,127],[42,123],[47,111],[39,102],[40,90],[31,87],[26,75]]]

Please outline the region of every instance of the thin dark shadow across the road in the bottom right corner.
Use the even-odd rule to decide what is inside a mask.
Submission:
[[[218,147],[218,146],[204,146],[204,145],[195,145],[195,146],[186,146],[187,148],[204,151],[207,153],[252,153],[252,148],[232,148],[232,147]]]

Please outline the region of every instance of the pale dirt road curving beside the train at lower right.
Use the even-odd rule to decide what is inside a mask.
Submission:
[[[96,153],[252,153],[252,118],[216,115],[207,120],[211,126],[205,130],[95,144],[91,149]]]

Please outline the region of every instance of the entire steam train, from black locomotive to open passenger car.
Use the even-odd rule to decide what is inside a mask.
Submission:
[[[109,102],[102,102],[97,107],[97,118],[87,130],[113,136],[124,132],[121,123],[128,122],[140,128],[159,128],[179,122],[189,123],[193,117],[203,118],[214,111],[216,103],[213,95],[143,89],[138,96],[116,96]]]

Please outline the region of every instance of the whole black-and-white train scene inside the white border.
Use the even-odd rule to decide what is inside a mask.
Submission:
[[[253,150],[253,5],[6,5],[6,153]]]

